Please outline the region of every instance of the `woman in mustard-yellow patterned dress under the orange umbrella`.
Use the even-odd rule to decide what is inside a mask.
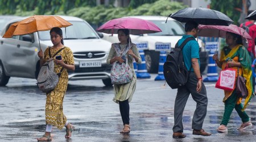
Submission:
[[[53,57],[55,62],[54,71],[55,73],[60,73],[61,68],[63,68],[60,73],[59,83],[55,87],[54,90],[47,93],[46,98],[46,133],[43,137],[38,138],[38,141],[47,141],[51,140],[51,130],[52,126],[56,126],[58,129],[62,129],[64,126],[66,127],[66,135],[65,138],[69,139],[71,137],[71,132],[75,127],[72,124],[68,123],[66,116],[63,114],[63,99],[65,92],[68,86],[68,72],[67,70],[75,70],[75,63],[73,59],[73,53],[70,48],[65,47],[63,44],[63,34],[60,28],[52,28],[50,31],[51,41],[53,43],[53,47],[46,48],[44,53],[42,50],[38,52],[38,56],[40,58],[40,65],[42,66],[44,62],[50,59],[49,51],[51,53],[51,57],[55,55],[61,48],[64,48],[62,51],[57,53],[56,56],[61,56],[61,60],[56,60]]]

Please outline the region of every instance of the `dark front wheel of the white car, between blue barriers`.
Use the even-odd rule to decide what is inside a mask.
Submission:
[[[144,51],[148,73],[158,73],[159,51]]]

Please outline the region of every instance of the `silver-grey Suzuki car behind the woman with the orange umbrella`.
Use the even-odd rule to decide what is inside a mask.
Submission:
[[[85,21],[73,16],[61,16],[72,26],[62,28],[64,45],[71,48],[75,60],[75,72],[68,72],[69,80],[101,79],[106,86],[112,86],[110,80],[111,65],[106,64],[111,43],[102,40],[101,33]],[[24,18],[22,18],[24,19]],[[12,20],[3,29],[3,36],[9,26],[22,19]],[[10,77],[37,78],[40,63],[37,55],[39,40],[43,51],[51,46],[49,31],[40,31],[27,35],[0,37],[0,85],[6,85]]]

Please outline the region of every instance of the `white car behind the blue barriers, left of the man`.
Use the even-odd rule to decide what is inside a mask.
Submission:
[[[131,35],[131,41],[137,45],[143,44],[144,47],[144,57],[146,60],[147,70],[150,73],[158,73],[159,66],[159,50],[157,49],[159,45],[169,45],[171,49],[174,49],[175,44],[185,34],[184,28],[180,22],[172,18],[168,18],[167,23],[165,16],[130,16],[133,18],[140,18],[144,20],[149,20],[158,26],[162,32],[157,32],[154,34],[142,34],[142,35]],[[111,43],[119,42],[117,35],[111,36],[110,34],[104,34],[103,39],[110,41]],[[208,53],[205,51],[204,43],[198,39],[199,46],[201,48],[200,52],[200,71],[204,72],[207,66]],[[170,50],[171,50],[170,49]],[[170,50],[168,52],[170,52]]]

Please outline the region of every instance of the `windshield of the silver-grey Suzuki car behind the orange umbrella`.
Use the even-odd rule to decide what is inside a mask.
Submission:
[[[61,28],[63,31],[64,40],[69,39],[97,39],[96,32],[85,22],[82,21],[69,21],[72,26]],[[39,31],[40,40],[51,40],[49,31]]]

